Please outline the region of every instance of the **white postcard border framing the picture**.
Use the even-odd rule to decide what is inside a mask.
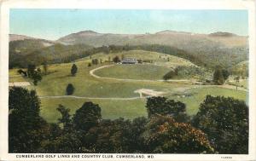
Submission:
[[[0,0],[1,1],[1,0]],[[256,160],[256,25],[254,0],[9,0],[0,3],[0,160],[25,160],[8,153],[8,62],[9,9],[247,9],[249,14],[249,154],[154,154],[150,160]],[[46,154],[44,154],[46,156]],[[113,154],[115,155],[115,154]],[[145,154],[145,156],[147,156]],[[222,158],[232,157],[232,158]],[[70,160],[71,158],[26,158],[26,160]],[[78,158],[77,160],[97,160]],[[73,158],[72,160],[75,160]],[[104,160],[113,160],[105,158]],[[139,160],[139,159],[118,159]],[[143,159],[146,160],[146,159]]]

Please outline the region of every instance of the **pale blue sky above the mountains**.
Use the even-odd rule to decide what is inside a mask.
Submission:
[[[10,33],[56,40],[80,31],[248,35],[247,10],[10,9]]]

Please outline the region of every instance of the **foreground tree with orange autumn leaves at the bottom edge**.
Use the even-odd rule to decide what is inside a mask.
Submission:
[[[173,118],[154,116],[146,125],[145,142],[149,153],[213,153],[200,129],[177,123]]]

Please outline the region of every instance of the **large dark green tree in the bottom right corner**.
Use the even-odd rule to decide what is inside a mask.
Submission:
[[[248,107],[244,101],[207,95],[192,124],[208,135],[218,153],[248,153]]]

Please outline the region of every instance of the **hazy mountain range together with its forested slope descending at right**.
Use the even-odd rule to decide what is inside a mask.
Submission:
[[[108,45],[166,45],[205,60],[206,64],[220,60],[225,66],[247,60],[247,37],[228,32],[198,34],[191,32],[162,31],[146,34],[112,34],[91,31],[77,32],[61,37],[56,42],[63,44],[84,43],[94,47]],[[213,63],[212,63],[213,64]]]

